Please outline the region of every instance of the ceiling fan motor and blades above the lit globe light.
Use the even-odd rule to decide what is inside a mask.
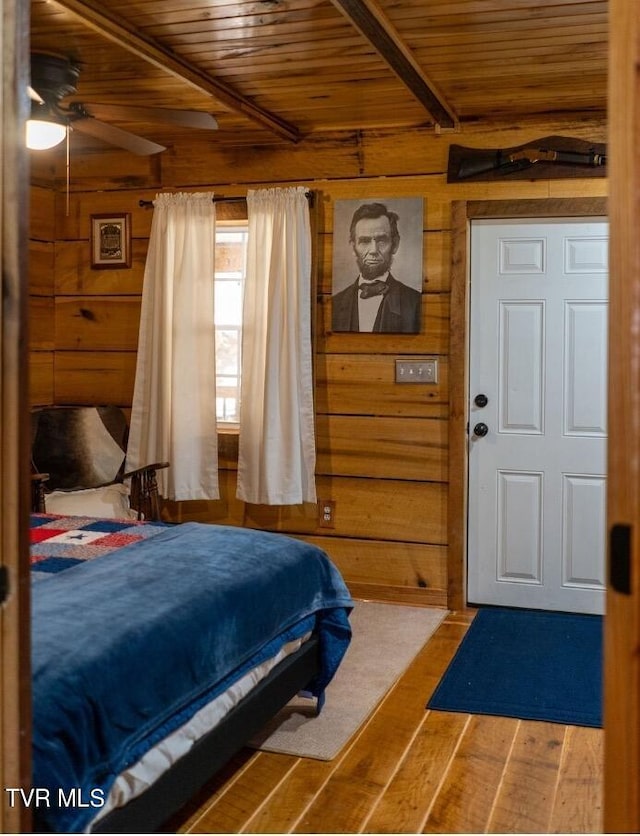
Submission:
[[[77,92],[80,71],[80,65],[69,58],[43,52],[32,53],[29,88],[31,119],[69,126],[73,130],[143,156],[158,154],[166,148],[157,142],[111,125],[108,120],[154,122],[201,130],[215,130],[218,127],[210,113],[198,110],[80,102],[71,102],[65,107],[62,104],[63,99]]]

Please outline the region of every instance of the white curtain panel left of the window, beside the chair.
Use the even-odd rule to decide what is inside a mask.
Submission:
[[[154,200],[127,470],[168,461],[162,496],[218,499],[211,193]]]

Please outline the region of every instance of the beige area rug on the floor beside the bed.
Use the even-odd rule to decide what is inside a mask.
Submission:
[[[409,667],[447,610],[357,601],[353,637],[326,691],[318,717],[315,700],[296,698],[253,738],[250,746],[331,760]]]

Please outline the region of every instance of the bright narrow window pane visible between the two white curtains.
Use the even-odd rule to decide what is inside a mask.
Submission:
[[[242,298],[247,266],[247,224],[216,225],[216,413],[220,424],[240,421]]]

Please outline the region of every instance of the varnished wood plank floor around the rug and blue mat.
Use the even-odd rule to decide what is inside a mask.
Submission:
[[[602,729],[427,711],[454,612],[333,761],[243,750],[179,833],[599,833]]]

